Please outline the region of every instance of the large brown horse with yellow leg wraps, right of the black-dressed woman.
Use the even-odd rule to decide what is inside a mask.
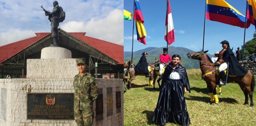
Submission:
[[[200,62],[200,69],[202,75],[208,74],[204,81],[206,81],[207,87],[210,93],[210,102],[212,104],[215,101],[215,105],[218,105],[218,97],[216,95],[216,82],[220,81],[220,77],[216,74],[216,66],[212,60],[207,56],[207,51],[191,52],[187,53],[187,56],[191,59],[197,59]],[[211,73],[211,74],[209,74]],[[239,84],[241,90],[244,92],[245,101],[244,104],[249,104],[248,94],[250,96],[250,108],[253,107],[253,91],[255,86],[255,79],[253,73],[248,70],[248,73],[244,76],[228,77],[227,83],[236,82]]]

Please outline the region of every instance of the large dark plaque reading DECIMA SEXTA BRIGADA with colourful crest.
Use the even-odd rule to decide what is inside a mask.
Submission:
[[[74,93],[28,93],[27,119],[74,120]]]

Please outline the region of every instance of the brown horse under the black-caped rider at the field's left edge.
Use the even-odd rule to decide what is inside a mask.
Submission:
[[[155,63],[154,63],[155,64]],[[154,64],[149,64],[149,67],[151,69],[150,72],[150,77],[149,77],[149,81],[148,81],[148,86],[152,86],[153,85],[153,73],[154,73]],[[129,81],[128,81],[128,72],[130,75]],[[131,89],[131,81],[136,77],[136,76],[145,76],[145,73],[140,73],[134,70],[134,67],[132,67],[131,69],[127,70],[125,72],[125,83],[128,83],[127,89],[130,90]]]

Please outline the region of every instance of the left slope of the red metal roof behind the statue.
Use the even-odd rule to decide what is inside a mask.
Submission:
[[[29,47],[50,33],[35,33],[37,36],[0,46],[0,63]]]

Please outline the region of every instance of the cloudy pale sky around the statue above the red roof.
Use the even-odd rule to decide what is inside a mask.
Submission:
[[[51,32],[43,6],[52,11],[54,0],[0,0],[0,46]],[[123,45],[123,0],[57,0],[65,11],[59,24],[67,32]]]

